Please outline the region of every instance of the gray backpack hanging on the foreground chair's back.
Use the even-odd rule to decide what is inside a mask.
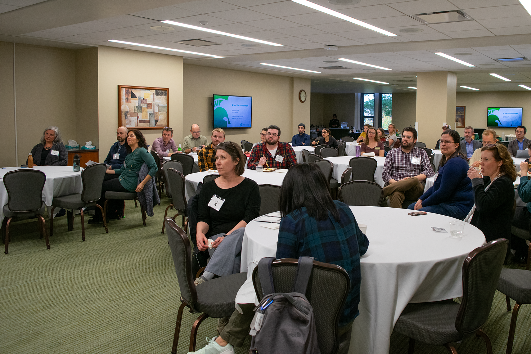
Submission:
[[[249,354],[321,354],[313,308],[305,296],[313,258],[299,257],[295,287],[289,293],[275,292],[273,261],[275,257],[265,257],[258,263],[264,297],[254,309]]]

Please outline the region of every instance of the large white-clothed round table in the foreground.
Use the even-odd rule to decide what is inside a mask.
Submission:
[[[465,236],[449,237],[431,227],[450,229],[444,215],[428,213],[412,217],[406,209],[350,206],[358,223],[367,225],[370,244],[361,257],[361,300],[352,331],[349,353],[389,352],[389,339],[398,317],[408,303],[439,301],[463,295],[461,268],[465,257],[485,244],[476,227],[466,223]],[[382,220],[393,225],[382,227]],[[241,271],[247,281],[238,291],[236,304],[258,304],[252,272],[262,257],[275,256],[278,229],[251,221],[245,228]]]

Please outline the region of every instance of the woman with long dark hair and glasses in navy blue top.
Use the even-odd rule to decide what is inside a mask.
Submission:
[[[444,155],[439,173],[430,187],[408,209],[427,211],[463,220],[474,206],[472,183],[467,178],[468,159],[460,151],[461,137],[455,130],[444,131],[440,148]]]

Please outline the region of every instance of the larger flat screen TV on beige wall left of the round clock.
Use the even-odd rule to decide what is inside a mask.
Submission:
[[[212,126],[222,129],[251,128],[252,106],[252,97],[215,94]]]

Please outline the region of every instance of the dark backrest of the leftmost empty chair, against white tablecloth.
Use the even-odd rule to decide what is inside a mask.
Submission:
[[[42,208],[42,188],[46,182],[44,172],[23,169],[4,175],[7,189],[7,208],[13,212],[32,212]]]

